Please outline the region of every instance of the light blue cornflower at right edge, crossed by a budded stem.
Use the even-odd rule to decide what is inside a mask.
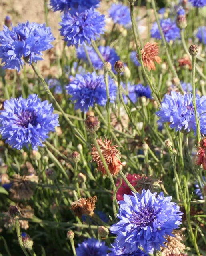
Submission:
[[[197,115],[200,118],[200,131],[206,133],[206,96],[196,95]],[[191,129],[196,133],[196,121],[192,94],[180,94],[171,91],[171,95],[166,94],[162,101],[162,108],[156,112],[160,117],[159,122],[170,122],[170,127],[176,131],[190,132]]]

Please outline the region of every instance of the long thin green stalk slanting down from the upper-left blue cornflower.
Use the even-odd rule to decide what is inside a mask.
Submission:
[[[58,110],[62,113],[62,115],[64,116],[65,120],[68,122],[68,124],[71,126],[71,128],[74,130],[74,132],[76,133],[75,135],[77,136],[77,138],[79,137],[87,146],[89,146],[88,142],[86,142],[85,138],[82,136],[82,134],[79,132],[79,130],[76,128],[76,126],[71,122],[70,118],[66,115],[66,113],[64,112],[64,110],[61,108],[61,106],[58,104],[57,100],[54,98],[52,92],[50,91],[50,89],[48,88],[48,85],[46,84],[44,78],[42,77],[42,75],[40,74],[40,72],[38,71],[38,69],[34,66],[34,64],[32,64],[32,69],[34,70],[35,74],[38,76],[38,78],[40,79],[40,81],[42,82],[44,89],[46,90],[47,94],[50,96],[50,99],[52,101],[52,103],[55,104],[55,106],[58,108]]]

